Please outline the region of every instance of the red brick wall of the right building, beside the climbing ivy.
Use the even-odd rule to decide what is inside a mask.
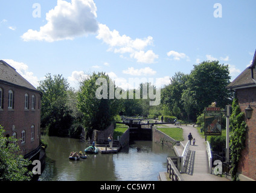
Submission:
[[[256,106],[256,87],[237,90],[238,103],[242,112],[245,112],[246,107],[250,103]],[[242,159],[238,165],[238,172],[256,180],[256,108],[252,113],[252,118],[246,123],[248,125],[246,133],[245,150],[242,152]]]

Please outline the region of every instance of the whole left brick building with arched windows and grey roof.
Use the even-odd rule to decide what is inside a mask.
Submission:
[[[5,136],[19,139],[25,158],[40,152],[40,99],[42,93],[16,70],[0,60],[0,125]]]

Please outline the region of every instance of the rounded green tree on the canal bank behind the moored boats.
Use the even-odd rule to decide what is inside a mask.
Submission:
[[[99,78],[106,80],[106,85],[103,85],[105,84],[104,82],[97,85],[97,80],[100,80]],[[104,72],[98,72],[98,74],[94,72],[81,83],[80,91],[77,95],[77,107],[83,113],[83,122],[89,136],[91,136],[92,130],[104,130],[114,120],[115,115],[118,115],[121,111],[121,100],[116,98],[109,99],[110,84],[116,89],[113,81]],[[98,93],[97,91],[100,88],[102,90]],[[106,98],[103,96],[104,92],[106,92]],[[99,97],[100,95],[103,98]]]

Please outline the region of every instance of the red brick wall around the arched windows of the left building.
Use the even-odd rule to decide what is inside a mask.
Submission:
[[[4,127],[5,134],[17,134],[21,139],[21,133],[25,130],[25,143],[18,144],[22,154],[25,155],[39,146],[40,138],[40,93],[16,87],[10,84],[0,83],[2,93],[2,109],[0,109],[0,125]],[[8,91],[13,91],[13,109],[8,109]],[[28,94],[28,109],[25,110],[25,93]],[[32,107],[32,95],[35,96],[35,107]],[[14,128],[13,128],[14,125]],[[34,139],[31,139],[31,126],[34,125]]]

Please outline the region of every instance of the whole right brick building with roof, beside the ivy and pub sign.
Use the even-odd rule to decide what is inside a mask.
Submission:
[[[228,89],[234,90],[237,94],[238,103],[242,112],[250,104],[256,106],[256,52],[252,65],[245,69],[232,83]],[[242,159],[238,165],[240,180],[256,180],[256,108],[252,107],[252,118],[246,119],[248,125],[246,132],[245,150],[242,152]]]

